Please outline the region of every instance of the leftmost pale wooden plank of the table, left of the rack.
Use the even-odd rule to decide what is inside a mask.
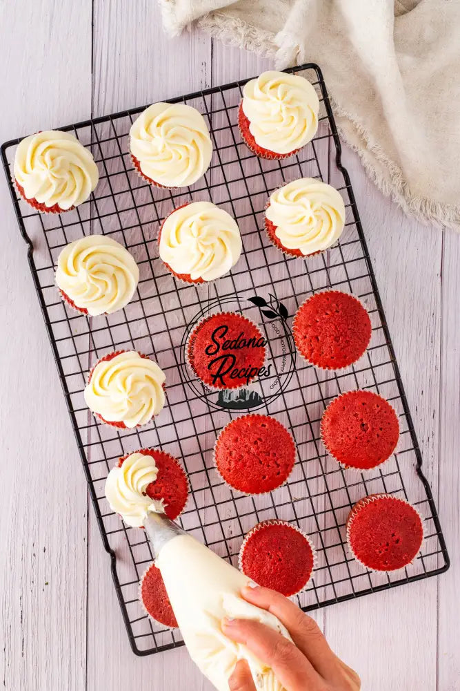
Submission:
[[[59,4],[0,3],[1,142],[90,112],[91,1]],[[1,178],[1,687],[81,691],[86,487]]]

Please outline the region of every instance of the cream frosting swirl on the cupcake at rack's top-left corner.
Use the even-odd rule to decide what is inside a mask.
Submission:
[[[14,178],[27,199],[67,211],[88,199],[99,172],[90,151],[74,135],[51,130],[19,142]]]

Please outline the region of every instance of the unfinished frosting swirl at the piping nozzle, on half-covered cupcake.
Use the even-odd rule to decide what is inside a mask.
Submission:
[[[150,455],[136,451],[125,458],[121,466],[112,468],[106,480],[106,498],[110,509],[119,513],[123,521],[140,528],[148,511],[164,513],[165,504],[150,499],[146,489],[157,480],[158,468]]]

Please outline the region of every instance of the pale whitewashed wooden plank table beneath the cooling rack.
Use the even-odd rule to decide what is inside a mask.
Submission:
[[[154,0],[0,3],[0,140],[248,77],[267,60],[163,36]],[[321,610],[363,689],[460,689],[460,245],[383,198],[345,151],[452,567]],[[1,200],[1,654],[8,691],[209,689],[186,650],[128,645],[5,180]]]

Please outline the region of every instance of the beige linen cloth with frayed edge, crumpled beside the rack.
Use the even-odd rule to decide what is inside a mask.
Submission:
[[[460,0],[159,0],[278,68],[316,62],[341,136],[407,214],[460,230]],[[248,75],[250,76],[250,75]]]

